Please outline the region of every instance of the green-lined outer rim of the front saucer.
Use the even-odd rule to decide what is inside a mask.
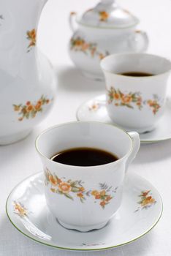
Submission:
[[[151,226],[147,231],[145,231],[145,233],[142,233],[141,236],[138,236],[137,238],[134,238],[130,241],[127,241],[126,243],[123,243],[123,244],[117,244],[115,246],[108,246],[108,247],[105,247],[105,248],[96,248],[96,249],[73,249],[73,248],[69,248],[69,247],[61,247],[61,246],[56,246],[56,245],[52,245],[52,244],[47,244],[43,241],[39,241],[37,240],[36,238],[34,238],[34,236],[32,237],[31,235],[28,236],[26,233],[24,233],[22,230],[19,229],[19,227],[17,227],[15,225],[15,223],[12,222],[12,219],[10,218],[10,214],[8,212],[8,206],[7,204],[9,203],[9,199],[12,195],[13,192],[15,192],[15,189],[17,189],[20,184],[22,184],[24,181],[27,181],[29,178],[31,177],[34,177],[34,176],[39,176],[40,174],[43,174],[43,171],[39,171],[38,173],[34,173],[26,178],[24,178],[22,181],[20,181],[13,189],[12,191],[9,193],[8,197],[7,197],[7,200],[6,200],[6,204],[5,204],[5,210],[6,210],[6,214],[7,214],[7,217],[9,219],[9,222],[11,222],[11,224],[16,228],[16,230],[18,230],[21,234],[23,234],[23,236],[26,236],[27,238],[31,239],[32,241],[38,243],[38,244],[43,244],[45,246],[50,246],[50,247],[53,247],[53,248],[56,248],[56,249],[61,249],[61,250],[65,250],[65,251],[77,251],[77,252],[86,252],[86,251],[89,251],[89,252],[93,252],[93,251],[105,251],[105,250],[110,250],[110,249],[114,249],[114,248],[117,248],[117,247],[120,247],[120,246],[124,246],[126,244],[131,244],[132,242],[134,241],[137,241],[138,239],[142,238],[143,236],[145,236],[146,234],[148,234],[152,229],[153,227],[155,227],[157,225],[157,223],[159,222],[159,220],[161,219],[161,216],[163,214],[163,201],[162,201],[162,198],[161,198],[161,195],[158,191],[158,189],[156,189],[156,187],[153,186],[153,184],[151,184],[150,181],[148,181],[146,178],[138,175],[137,173],[133,173],[134,176],[138,176],[139,178],[141,178],[142,180],[144,180],[145,182],[147,182],[148,184],[151,184],[151,186],[156,190],[157,194],[159,195],[159,198],[160,198],[160,203],[161,203],[161,211],[159,213],[159,217],[156,219],[156,222],[154,222],[153,226]]]

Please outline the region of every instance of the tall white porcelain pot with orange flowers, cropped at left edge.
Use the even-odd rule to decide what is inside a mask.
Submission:
[[[0,145],[26,138],[53,105],[56,78],[37,48],[47,0],[0,2]]]

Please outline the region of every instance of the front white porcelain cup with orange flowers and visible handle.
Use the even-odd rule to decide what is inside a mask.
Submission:
[[[118,160],[80,167],[50,159],[80,147],[108,151]],[[140,148],[140,138],[137,132],[126,133],[111,124],[72,122],[42,132],[36,148],[44,168],[48,208],[64,227],[86,232],[104,227],[121,206],[123,179]]]

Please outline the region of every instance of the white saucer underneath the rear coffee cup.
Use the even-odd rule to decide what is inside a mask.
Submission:
[[[100,95],[84,102],[77,110],[78,121],[102,121],[113,124],[107,114],[105,95]],[[164,116],[159,120],[156,129],[140,135],[141,143],[156,143],[171,139],[171,100],[167,99]]]

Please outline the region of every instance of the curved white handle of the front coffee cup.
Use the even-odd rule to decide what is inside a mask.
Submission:
[[[128,170],[129,165],[136,157],[137,152],[139,151],[140,148],[140,135],[137,132],[128,132],[128,134],[132,138],[132,152],[129,154],[129,157],[126,161],[126,171]]]

